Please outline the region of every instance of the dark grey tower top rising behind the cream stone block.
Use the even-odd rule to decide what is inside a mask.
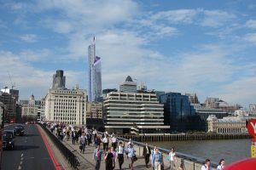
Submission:
[[[53,76],[52,89],[64,89],[66,87],[66,77],[64,77],[64,71],[56,71]]]

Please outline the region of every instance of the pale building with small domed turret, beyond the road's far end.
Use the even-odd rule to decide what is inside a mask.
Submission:
[[[35,100],[34,95],[29,100],[20,100],[21,117],[24,122],[36,122],[38,120],[38,109],[41,105],[40,100]]]

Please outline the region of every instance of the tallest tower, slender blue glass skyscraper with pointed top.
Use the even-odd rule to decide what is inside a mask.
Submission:
[[[101,58],[96,56],[95,37],[88,48],[88,100],[98,101],[102,96],[102,65]]]

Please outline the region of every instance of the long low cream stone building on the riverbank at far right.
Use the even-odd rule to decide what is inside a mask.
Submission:
[[[215,115],[207,118],[210,133],[247,133],[246,122],[250,116],[226,116],[218,119]]]

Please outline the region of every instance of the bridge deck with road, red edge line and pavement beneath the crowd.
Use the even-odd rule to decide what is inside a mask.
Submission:
[[[12,126],[5,127],[12,128]],[[79,152],[79,144],[72,144],[71,139],[63,139],[61,142],[51,133],[47,127],[41,124],[26,125],[26,134],[22,137],[15,138],[15,150],[4,150],[2,169],[95,169],[96,162],[93,160],[93,145],[86,145],[85,152]],[[127,145],[127,139],[119,138]],[[134,163],[135,170],[152,169],[145,166],[143,158],[143,143],[133,141],[138,160]],[[165,169],[169,169],[169,163],[166,156],[168,150],[160,149],[163,155]],[[150,163],[151,161],[149,161]],[[201,170],[204,160],[195,156],[177,152],[176,167],[183,164],[183,169],[186,170]],[[123,164],[123,169],[129,168],[129,161],[126,159]],[[216,163],[212,165],[216,169]],[[105,161],[101,162],[101,170],[105,169]],[[115,169],[119,169],[116,162]]]

